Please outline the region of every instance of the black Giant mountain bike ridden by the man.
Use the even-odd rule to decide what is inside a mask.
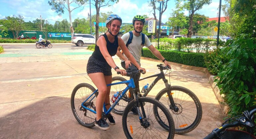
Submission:
[[[165,87],[161,90],[157,96],[156,100],[163,103],[170,111],[173,116],[175,123],[175,133],[176,134],[185,134],[194,130],[197,125],[200,123],[202,118],[202,106],[199,99],[196,95],[189,89],[182,86],[171,86],[168,83],[168,80],[165,78],[165,75],[169,74],[171,70],[168,66],[163,66],[162,64],[157,65],[158,69],[160,69],[160,73],[145,77],[143,79],[139,79],[139,81],[156,77],[156,79],[151,83],[147,90],[145,90],[144,97],[148,95],[151,89],[155,86],[155,84],[163,79],[165,83]],[[166,71],[169,71],[169,73]],[[167,74],[166,74],[167,73]],[[130,76],[127,74],[127,76]],[[116,76],[112,78],[112,83],[125,81],[126,79],[120,76]],[[169,79],[170,80],[170,79]],[[127,84],[119,84],[113,85],[111,87],[111,92],[122,92],[124,88],[126,88]],[[110,96],[113,94],[110,94]],[[119,101],[116,107],[113,109],[113,112],[118,115],[122,115],[125,107],[132,100],[132,96],[130,95],[130,91],[128,94]],[[159,119],[161,119],[159,117]]]

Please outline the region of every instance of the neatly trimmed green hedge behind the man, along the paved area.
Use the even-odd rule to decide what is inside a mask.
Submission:
[[[169,62],[205,68],[203,53],[187,53],[171,50],[159,50],[159,52]],[[158,59],[148,48],[143,48],[143,54],[144,57]]]

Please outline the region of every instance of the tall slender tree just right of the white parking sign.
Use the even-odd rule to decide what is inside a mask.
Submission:
[[[159,23],[160,23],[160,26],[159,26],[159,28],[161,28],[161,24],[162,24],[162,15],[163,15],[163,13],[165,12],[165,10],[167,9],[167,2],[168,2],[168,1],[169,1],[169,0],[162,0],[162,1],[161,1],[161,11],[160,11],[160,6],[159,6],[159,7],[156,6],[157,3],[160,3],[159,0],[150,0],[150,1],[149,1],[149,6],[152,7],[152,8],[153,8],[152,11],[154,11],[154,12],[153,12],[153,15],[154,15],[155,20],[157,20],[156,10],[158,10],[158,11],[160,12],[160,15],[159,15]],[[158,25],[158,24],[157,24],[157,25]],[[157,26],[155,26],[155,30],[156,30],[156,36],[157,36],[157,38],[158,38]]]

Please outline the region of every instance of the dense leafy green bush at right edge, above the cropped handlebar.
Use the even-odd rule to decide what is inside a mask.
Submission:
[[[256,39],[241,34],[228,40],[220,51],[229,58],[223,62],[215,77],[220,94],[229,106],[229,116],[256,108]]]

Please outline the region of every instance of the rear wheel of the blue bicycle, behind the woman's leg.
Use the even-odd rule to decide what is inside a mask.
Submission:
[[[91,86],[88,83],[80,83],[75,86],[75,88],[72,91],[71,94],[71,109],[73,112],[73,115],[75,116],[75,119],[85,127],[93,127],[96,114],[89,110],[85,110],[82,108],[81,104],[84,100],[86,100],[96,89]],[[96,105],[96,97],[98,96],[98,92],[95,92],[94,95],[91,96],[91,99],[88,99],[84,103],[84,106],[86,106],[89,109],[92,109],[96,111],[95,105]]]

